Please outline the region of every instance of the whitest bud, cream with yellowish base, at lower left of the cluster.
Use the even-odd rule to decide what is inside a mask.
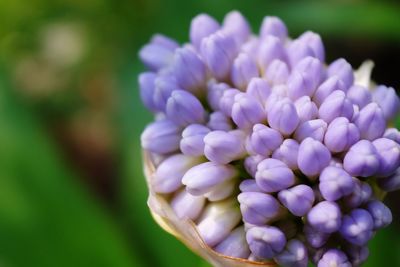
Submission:
[[[240,219],[235,199],[212,202],[201,215],[197,230],[204,242],[213,247],[229,236]]]

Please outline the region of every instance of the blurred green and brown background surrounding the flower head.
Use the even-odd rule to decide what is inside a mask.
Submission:
[[[255,32],[265,15],[292,36],[317,31],[329,62],[370,58],[373,78],[400,88],[397,1],[0,0],[1,267],[208,266],[148,212],[137,53],[232,9]],[[395,222],[366,266],[400,266],[399,201],[387,198]]]

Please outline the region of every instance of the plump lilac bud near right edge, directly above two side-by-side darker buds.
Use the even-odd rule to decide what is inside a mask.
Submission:
[[[376,103],[370,103],[361,109],[355,124],[360,129],[361,138],[371,141],[382,137],[386,129],[385,117]]]

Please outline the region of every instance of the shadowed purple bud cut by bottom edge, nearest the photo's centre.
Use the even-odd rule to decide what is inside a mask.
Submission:
[[[301,241],[292,239],[286,244],[286,249],[275,257],[275,261],[281,266],[307,267],[307,248]]]

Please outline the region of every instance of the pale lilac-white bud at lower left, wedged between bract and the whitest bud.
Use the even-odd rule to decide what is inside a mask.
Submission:
[[[171,200],[171,208],[179,219],[196,220],[203,211],[206,199],[203,196],[193,196],[185,189],[177,192]]]

